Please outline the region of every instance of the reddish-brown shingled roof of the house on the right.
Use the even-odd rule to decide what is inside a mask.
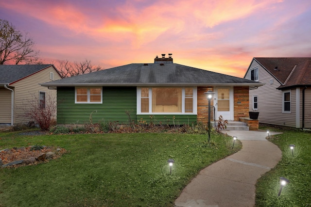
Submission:
[[[278,89],[311,85],[311,58],[254,58],[253,60],[280,82]]]

